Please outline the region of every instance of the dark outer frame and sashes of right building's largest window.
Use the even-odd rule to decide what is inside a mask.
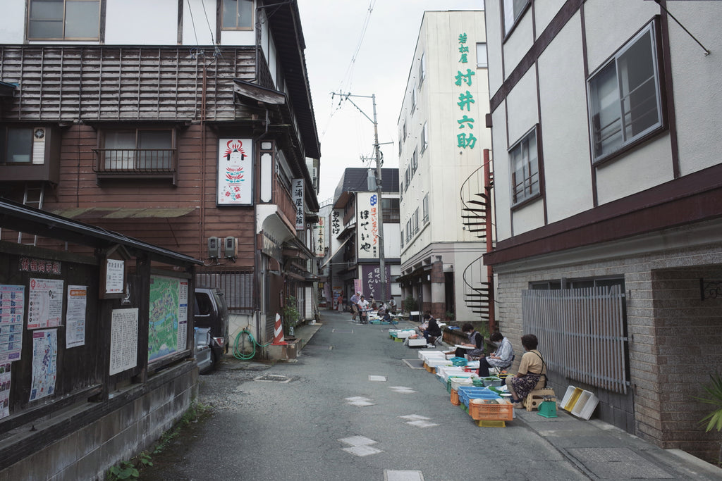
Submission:
[[[653,82],[655,92],[654,102],[657,120],[655,123],[644,128],[642,131],[638,133],[632,133],[631,136],[627,137],[627,130],[633,127],[635,118],[631,117],[632,107],[630,106],[629,115],[631,120],[629,123],[625,121],[627,114],[624,112],[624,100],[625,98],[629,98],[632,92],[635,92],[638,89],[642,88],[643,84],[645,84],[646,81],[642,84],[636,85],[634,88],[630,88],[630,92],[628,92],[625,96],[623,92],[623,90],[625,89],[624,82],[620,81],[622,80],[622,75],[624,74],[620,73],[619,60],[620,58],[623,58],[627,52],[632,50],[632,48],[640,45],[640,42],[645,41],[645,37],[647,36],[648,39],[651,41],[651,58],[649,60],[651,61],[651,69],[653,74],[653,76],[647,81]],[[649,22],[644,27],[642,27],[637,33],[635,33],[635,35],[632,36],[629,40],[627,40],[627,42],[625,42],[617,51],[615,51],[612,56],[610,56],[606,61],[604,61],[604,63],[602,63],[598,69],[593,71],[593,73],[588,76],[586,80],[588,107],[587,121],[590,136],[590,154],[592,164],[596,165],[605,162],[606,160],[612,159],[619,154],[627,151],[632,146],[641,144],[644,141],[647,141],[648,138],[655,136],[660,131],[664,131],[666,129],[666,110],[663,103],[664,72],[661,68],[662,61],[660,47],[661,43],[659,38],[659,27],[656,20],[653,20],[652,22]],[[617,110],[617,113],[619,113],[619,118],[615,119],[614,122],[619,123],[618,135],[622,136],[622,140],[620,144],[612,146],[611,149],[608,151],[604,151],[604,146],[601,146],[601,140],[597,140],[597,138],[601,137],[601,131],[603,130],[603,126],[599,125],[598,117],[601,113],[601,110],[604,109],[601,107],[601,105],[599,105],[599,86],[596,86],[595,81],[599,80],[603,74],[607,73],[608,69],[610,69],[612,66],[614,71],[614,79],[616,81],[616,84],[614,86],[614,94],[616,94],[617,96],[614,102],[617,103],[619,107],[619,110]],[[629,81],[628,78],[625,80]]]

